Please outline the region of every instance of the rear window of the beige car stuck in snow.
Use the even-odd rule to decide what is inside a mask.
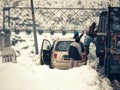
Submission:
[[[68,51],[70,44],[73,41],[59,41],[55,47],[55,50],[57,51]]]

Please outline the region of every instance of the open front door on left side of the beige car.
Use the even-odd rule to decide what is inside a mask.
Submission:
[[[47,39],[43,39],[40,51],[40,64],[50,65],[51,62],[51,43]]]

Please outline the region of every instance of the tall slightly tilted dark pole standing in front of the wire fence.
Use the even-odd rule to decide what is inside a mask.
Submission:
[[[33,34],[34,34],[34,43],[35,43],[35,54],[38,54],[38,43],[37,43],[37,34],[36,34],[36,26],[35,26],[36,24],[35,24],[33,0],[31,0],[31,11],[32,11],[32,20],[33,20]]]

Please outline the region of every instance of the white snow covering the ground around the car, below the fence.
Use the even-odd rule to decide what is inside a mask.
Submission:
[[[38,35],[39,49],[43,38],[52,42],[55,38],[72,36],[73,34],[63,36],[57,33],[54,36],[49,33]],[[39,55],[32,53],[34,52],[33,34],[12,33],[11,38],[23,42],[18,41],[12,46],[17,51],[17,63],[2,63],[0,58],[0,90],[113,90],[109,80],[95,70],[98,59],[94,49],[90,49],[90,57],[94,59],[91,59],[87,65],[69,70],[50,69],[47,65],[41,66]],[[94,45],[91,44],[91,47]]]

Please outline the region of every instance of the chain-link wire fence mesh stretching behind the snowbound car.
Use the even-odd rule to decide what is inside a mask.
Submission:
[[[98,22],[105,8],[34,8],[36,29],[48,31],[87,30],[92,22]],[[32,30],[32,14],[29,7],[5,7],[5,30]]]

